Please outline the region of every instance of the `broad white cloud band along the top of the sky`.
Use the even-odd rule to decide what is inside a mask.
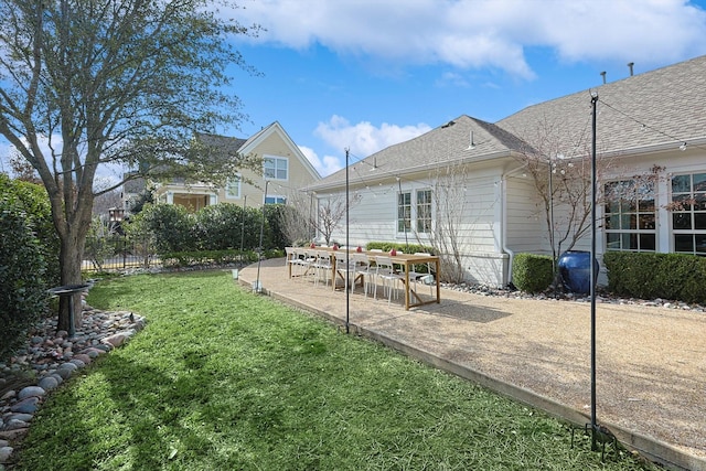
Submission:
[[[528,47],[568,62],[646,66],[705,53],[706,11],[687,0],[250,0],[234,14],[256,41],[398,64],[493,67],[532,78]]]

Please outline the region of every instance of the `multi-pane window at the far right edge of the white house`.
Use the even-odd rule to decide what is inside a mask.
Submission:
[[[706,256],[706,173],[672,176],[674,251]]]

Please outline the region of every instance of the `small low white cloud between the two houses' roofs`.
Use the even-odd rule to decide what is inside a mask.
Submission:
[[[397,126],[383,122],[379,127],[370,121],[352,125],[341,116],[332,116],[328,122],[319,122],[314,135],[334,148],[349,149],[357,157],[364,158],[392,144],[413,139],[431,130],[426,124],[416,126]]]

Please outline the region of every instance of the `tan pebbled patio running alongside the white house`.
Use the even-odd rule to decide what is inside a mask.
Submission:
[[[256,281],[257,265],[239,271]],[[345,293],[264,260],[263,291],[343,324]],[[356,290],[352,333],[475,381],[582,427],[590,420],[590,307],[442,290],[414,308]],[[706,470],[706,314],[641,304],[597,308],[597,417],[618,439],[672,469]]]

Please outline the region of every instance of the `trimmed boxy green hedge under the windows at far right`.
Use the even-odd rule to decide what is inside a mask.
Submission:
[[[706,258],[688,254],[607,251],[608,289],[618,296],[706,302]]]

